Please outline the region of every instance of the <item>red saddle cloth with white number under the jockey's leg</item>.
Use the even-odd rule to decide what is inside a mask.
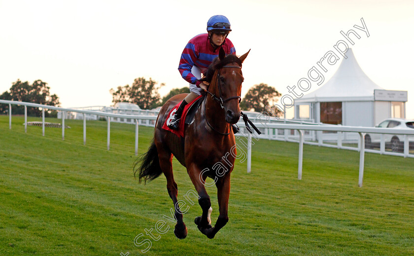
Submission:
[[[181,104],[181,101],[178,102],[168,114],[168,118],[163,125],[163,129],[171,131],[179,137],[184,137],[185,125],[186,124],[190,125],[191,123],[193,123],[194,116],[196,115],[197,109],[201,105],[201,102],[203,102],[203,99],[204,99],[204,96],[201,95],[201,96],[198,96],[193,101],[191,101],[190,103],[188,103],[187,105],[185,105],[184,110],[182,111],[179,128],[178,130],[173,130],[173,129],[168,128],[167,125],[171,123],[171,120],[173,120],[175,111],[177,111],[178,107]]]

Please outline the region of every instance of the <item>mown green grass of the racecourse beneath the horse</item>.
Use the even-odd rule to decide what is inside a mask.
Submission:
[[[40,121],[29,118],[28,121]],[[59,123],[57,119],[47,122]],[[174,224],[155,241],[155,229],[173,203],[164,176],[134,179],[135,126],[67,120],[60,128],[28,127],[22,117],[0,116],[0,256],[303,255],[381,256],[414,254],[414,159],[365,154],[364,185],[358,187],[359,153],[304,146],[303,178],[297,180],[298,144],[260,140],[252,149],[252,172],[236,163],[229,223],[210,240],[194,224],[201,208],[184,215],[188,236]],[[139,153],[153,128],[139,128]],[[194,189],[174,160],[179,197]],[[212,219],[218,216],[216,191]],[[147,244],[134,245],[150,239]]]

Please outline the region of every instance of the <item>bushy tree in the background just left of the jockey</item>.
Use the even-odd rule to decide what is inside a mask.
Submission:
[[[161,96],[158,90],[165,84],[157,86],[157,82],[151,78],[136,78],[132,86],[118,86],[117,90],[109,90],[112,94],[112,102],[130,102],[137,104],[142,109],[152,109],[160,105]]]

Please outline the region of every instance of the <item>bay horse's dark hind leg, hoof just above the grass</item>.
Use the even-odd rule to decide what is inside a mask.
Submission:
[[[165,177],[167,178],[167,191],[170,194],[171,199],[173,199],[174,203],[174,216],[177,220],[177,224],[175,224],[174,234],[179,239],[184,239],[187,236],[187,227],[185,226],[182,220],[182,213],[179,211],[179,207],[177,205],[177,196],[178,196],[178,188],[177,184],[174,181],[173,175],[173,154],[171,152],[166,152],[161,147],[157,147],[158,150],[158,157],[160,159],[160,167],[163,170]]]

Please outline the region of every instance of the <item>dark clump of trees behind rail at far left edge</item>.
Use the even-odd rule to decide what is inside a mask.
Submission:
[[[0,99],[31,102],[49,106],[60,106],[59,97],[56,94],[50,95],[50,87],[42,80],[36,80],[32,85],[28,81],[22,82],[17,79],[12,83],[9,91],[5,91],[0,95]],[[13,114],[22,115],[25,113],[24,106],[12,105],[11,112]],[[0,105],[0,113],[5,114],[8,111],[8,105]],[[41,110],[37,107],[28,107],[29,116],[40,116]],[[45,116],[55,116],[56,111],[47,110]]]

